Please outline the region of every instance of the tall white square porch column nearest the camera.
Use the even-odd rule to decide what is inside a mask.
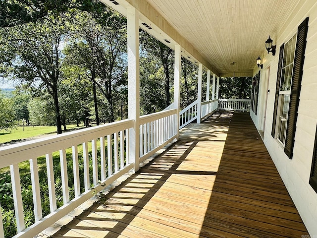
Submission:
[[[129,129],[129,163],[134,163],[134,172],[139,170],[140,147],[140,60],[139,60],[139,12],[135,7],[127,8],[128,35],[128,115],[135,121]]]

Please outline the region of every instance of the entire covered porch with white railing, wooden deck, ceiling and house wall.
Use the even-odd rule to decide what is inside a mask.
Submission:
[[[269,136],[279,57],[267,55],[264,48],[269,35],[277,47],[288,40],[307,12],[317,19],[316,2],[102,1],[127,18],[128,119],[0,148],[0,169],[9,167],[10,171],[8,183],[12,184],[17,228],[14,238],[38,234],[66,238],[308,236],[288,191],[307,228],[316,231],[316,194],[309,185],[303,186],[308,184],[308,176],[302,175],[310,161],[303,166],[293,160],[284,166],[279,160],[284,157],[277,154],[283,146]],[[175,53],[174,103],[164,111],[144,116],[140,116],[139,28]],[[250,34],[245,34],[246,29]],[[315,50],[314,45],[311,50]],[[259,55],[264,64],[261,85],[261,69],[256,65]],[[198,65],[197,100],[183,110],[181,57]],[[207,71],[207,79],[203,71]],[[311,72],[312,81],[315,72]],[[250,110],[251,100],[219,99],[220,77],[256,74],[254,95],[261,97],[258,115],[255,106],[251,116],[259,130],[264,131],[266,124],[264,141],[288,191],[250,116],[243,113]],[[202,96],[204,80],[206,99]],[[307,95],[315,94],[307,89]],[[191,123],[194,121],[197,124]],[[309,120],[302,118],[305,126],[315,122],[311,115]],[[305,130],[313,131],[311,127]],[[313,141],[313,135],[306,132],[300,138],[297,141]],[[306,145],[297,149],[305,149],[304,159],[311,157],[312,144],[307,150]],[[148,162],[167,145],[165,152]],[[30,164],[23,175],[30,177],[33,195],[29,199],[35,208],[34,223],[27,226],[20,163]],[[72,170],[67,170],[68,164]],[[300,176],[293,168],[299,168]],[[39,181],[39,172],[44,170],[46,190]],[[115,184],[118,186],[113,188]],[[103,196],[105,204],[87,205],[87,200],[107,186],[113,189]],[[43,193],[50,198],[45,204]],[[0,216],[0,237],[5,235],[2,225]]]

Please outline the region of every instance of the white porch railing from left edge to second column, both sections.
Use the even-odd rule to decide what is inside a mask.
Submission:
[[[176,109],[140,117],[140,162],[176,138],[178,129],[176,117]],[[133,169],[134,162],[131,162],[126,156],[129,154],[128,131],[129,128],[133,127],[133,124],[133,120],[126,119],[0,148],[0,169],[9,167],[11,174],[18,231],[14,238],[36,236],[91,198],[94,195],[93,191],[102,190],[104,186]],[[38,166],[38,157],[42,157],[41,163],[39,163],[42,170],[43,167],[47,168],[46,185],[48,185],[48,191],[42,191],[40,188],[39,170],[41,169]],[[30,185],[32,185],[35,208],[35,223],[26,229],[19,163],[30,163],[28,176],[31,177],[32,184]],[[68,179],[70,174],[67,172],[67,164],[69,163],[73,165],[71,173],[74,175],[73,179],[70,180]],[[58,171],[60,170],[58,176],[60,176],[62,187],[62,194],[61,192],[58,194],[58,198],[62,200],[60,207],[57,205],[57,194],[55,193],[54,170],[56,166],[59,167]],[[80,167],[83,168],[81,173]],[[92,174],[90,174],[91,172]],[[73,195],[69,193],[69,184],[74,187]],[[50,214],[45,217],[42,215],[43,201],[41,201],[40,195],[43,192],[49,194],[50,200],[50,208],[46,208],[46,210],[50,210]],[[4,231],[0,213],[0,238],[2,237],[4,237]]]

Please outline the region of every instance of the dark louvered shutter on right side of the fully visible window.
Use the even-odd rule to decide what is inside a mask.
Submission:
[[[286,139],[284,147],[284,152],[290,159],[292,159],[293,157],[297,110],[299,105],[299,95],[301,91],[301,82],[303,76],[307,30],[308,17],[302,22],[302,24],[299,25],[297,30],[297,43],[295,49],[292,88],[288,108]]]

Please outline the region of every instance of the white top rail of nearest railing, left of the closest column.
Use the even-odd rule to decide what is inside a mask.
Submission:
[[[81,144],[108,134],[133,127],[133,120],[125,119],[109,124],[53,135],[33,141],[0,148],[0,168],[49,154],[74,144]],[[14,156],[12,156],[14,154]]]

